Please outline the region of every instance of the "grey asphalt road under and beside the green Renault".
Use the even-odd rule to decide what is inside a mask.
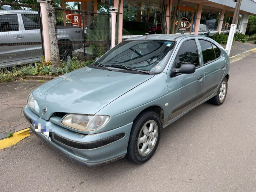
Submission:
[[[231,63],[223,105],[208,102],[162,132],[145,164],[75,164],[35,135],[0,152],[0,191],[256,191],[256,52]]]

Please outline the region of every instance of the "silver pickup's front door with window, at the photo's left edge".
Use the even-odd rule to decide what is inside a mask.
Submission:
[[[21,60],[26,55],[23,33],[17,14],[0,15],[0,66]]]

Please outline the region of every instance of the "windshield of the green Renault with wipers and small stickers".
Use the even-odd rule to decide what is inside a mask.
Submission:
[[[94,64],[124,70],[137,69],[140,72],[161,72],[170,54],[174,41],[166,40],[133,40],[123,41]]]

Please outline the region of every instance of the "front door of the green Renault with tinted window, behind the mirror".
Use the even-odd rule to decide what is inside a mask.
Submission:
[[[182,42],[176,52],[171,75],[167,76],[170,98],[168,121],[194,107],[204,96],[204,69],[199,62],[195,39]],[[196,71],[192,74],[175,74],[174,68],[180,68],[182,64],[195,65]]]

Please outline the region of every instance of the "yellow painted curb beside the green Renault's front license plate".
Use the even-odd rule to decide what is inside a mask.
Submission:
[[[19,143],[21,140],[25,139],[29,135],[29,128],[13,133],[12,137],[0,140],[0,150]]]

